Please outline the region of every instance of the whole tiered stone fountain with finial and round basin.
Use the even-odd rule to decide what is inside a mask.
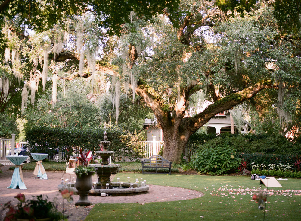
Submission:
[[[127,196],[147,193],[147,191],[149,190],[148,185],[133,183],[131,187],[131,184],[129,182],[122,183],[110,181],[110,176],[112,174],[116,174],[118,168],[120,168],[121,165],[109,164],[108,159],[114,154],[114,151],[107,150],[111,143],[107,139],[107,133],[104,132],[104,141],[100,142],[100,145],[103,146],[103,150],[95,152],[96,155],[101,157],[101,164],[89,165],[90,167],[95,167],[98,176],[98,182],[94,184],[94,187],[92,187],[92,189],[89,191],[89,195],[103,196],[104,194],[106,194],[109,196]],[[71,184],[71,187],[63,184],[58,185],[58,189],[60,191],[65,188],[69,188],[72,191],[77,192],[77,190],[74,188],[74,184]]]

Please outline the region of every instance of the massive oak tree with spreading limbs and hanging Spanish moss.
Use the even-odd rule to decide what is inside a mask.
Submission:
[[[22,37],[22,47],[29,48],[20,52],[32,64],[25,92],[33,93],[48,69],[54,88],[57,79],[93,79],[97,71],[106,73],[116,109],[121,88],[141,96],[163,130],[163,157],[179,162],[193,133],[215,114],[253,101],[262,90],[279,89],[274,105],[285,126],[295,110],[289,102],[300,102],[299,30],[284,33],[273,5],[252,4],[244,17],[241,11],[228,17],[206,1],[182,1],[177,11],[160,8],[152,21],[139,10],[129,11],[119,29],[121,37],[101,26],[93,7],[65,22],[70,38],[59,26],[29,37],[10,23],[8,33]],[[22,65],[17,67],[22,70]],[[212,104],[190,116],[189,100],[200,90]]]

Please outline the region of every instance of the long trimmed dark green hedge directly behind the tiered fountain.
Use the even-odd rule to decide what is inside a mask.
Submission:
[[[140,141],[139,137],[116,126],[107,126],[105,129],[101,127],[33,126],[25,129],[25,135],[29,141],[31,153],[48,153],[52,156],[60,150],[66,152],[69,159],[69,156],[73,153],[78,154],[79,149],[88,149],[92,153],[100,150],[98,145],[104,139],[105,130],[107,131],[108,140],[111,141],[109,149],[115,151],[115,157],[141,158],[144,156],[143,145],[142,143],[139,145],[138,142]]]

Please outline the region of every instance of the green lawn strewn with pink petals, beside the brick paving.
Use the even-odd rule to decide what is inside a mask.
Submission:
[[[142,177],[147,184],[174,186],[202,191],[205,195],[192,200],[172,202],[97,204],[85,221],[92,220],[263,220],[263,210],[252,195],[259,181],[250,177],[117,174],[120,181],[127,176]],[[283,188],[269,188],[265,220],[300,220],[301,180],[279,181]],[[248,188],[248,189],[247,189]],[[295,190],[295,191],[291,191]],[[296,191],[299,190],[299,191]],[[286,192],[285,192],[286,191]]]

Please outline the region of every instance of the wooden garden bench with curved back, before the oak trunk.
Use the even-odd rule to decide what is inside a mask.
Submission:
[[[166,159],[163,159],[160,155],[153,155],[150,158],[141,161],[142,163],[142,174],[145,173],[161,173],[161,174],[171,174],[171,164],[172,162],[169,162]],[[144,168],[156,168],[156,172],[144,172]],[[169,168],[169,172],[158,172],[158,168]]]

